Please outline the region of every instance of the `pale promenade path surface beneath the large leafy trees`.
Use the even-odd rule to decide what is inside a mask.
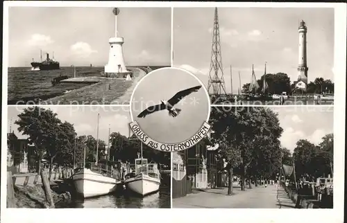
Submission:
[[[172,199],[173,208],[295,208],[283,188],[275,185],[253,186],[242,191],[234,188],[228,196],[228,188],[196,191],[185,197]]]

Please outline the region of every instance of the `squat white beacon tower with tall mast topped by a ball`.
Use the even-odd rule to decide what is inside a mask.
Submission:
[[[110,44],[110,53],[108,55],[108,64],[105,65],[105,73],[109,76],[117,76],[121,73],[131,73],[126,70],[123,57],[123,44],[124,38],[117,36],[117,15],[119,15],[119,8],[113,9],[115,15],[115,37],[111,37],[108,40]]]

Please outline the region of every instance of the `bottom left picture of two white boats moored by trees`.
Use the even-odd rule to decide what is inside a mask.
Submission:
[[[8,208],[171,208],[171,153],[129,107],[8,106]]]

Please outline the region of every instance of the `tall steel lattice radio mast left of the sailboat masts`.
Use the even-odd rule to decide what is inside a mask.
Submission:
[[[223,64],[221,63],[221,38],[219,36],[219,21],[217,8],[214,9],[214,25],[212,37],[211,66],[208,80],[208,92],[211,96],[226,95]]]

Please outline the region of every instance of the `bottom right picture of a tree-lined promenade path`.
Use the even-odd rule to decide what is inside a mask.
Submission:
[[[172,208],[333,208],[333,107],[212,107],[172,157]]]

